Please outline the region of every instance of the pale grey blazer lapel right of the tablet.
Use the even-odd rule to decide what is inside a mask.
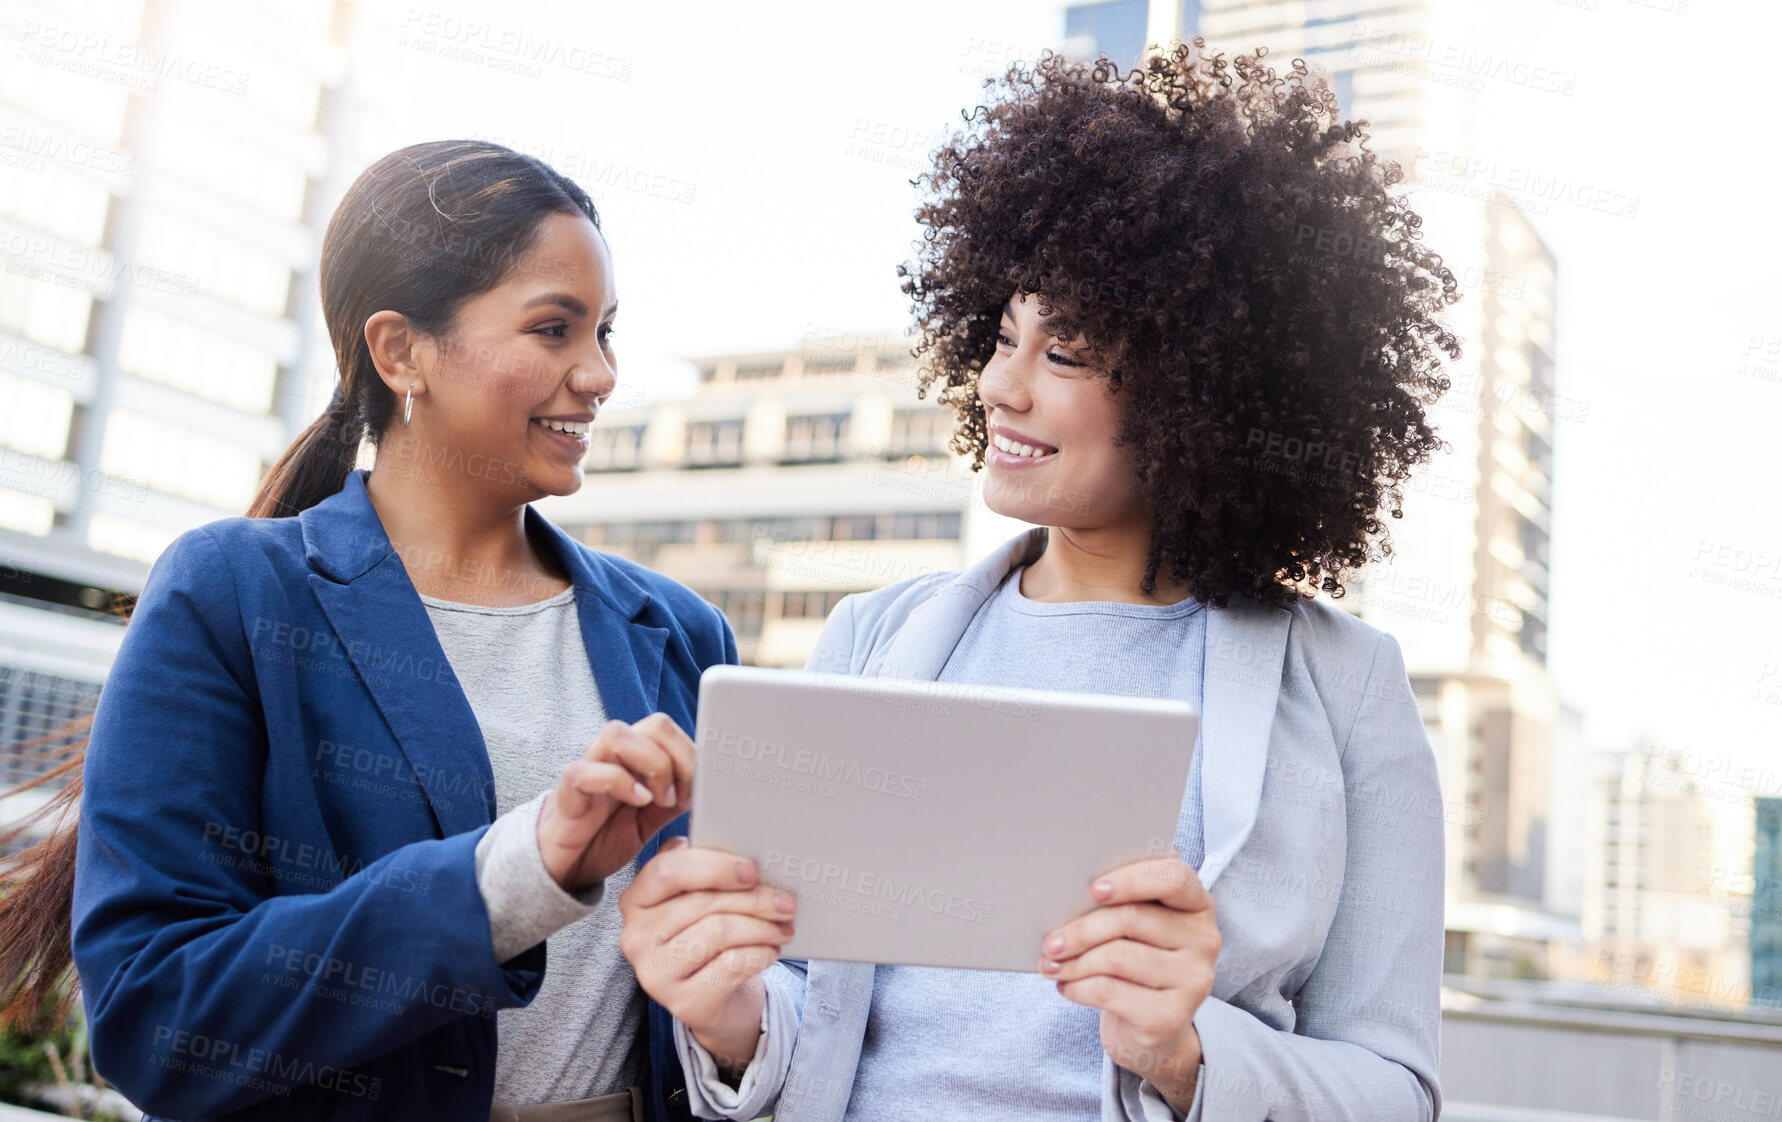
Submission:
[[[1214,887],[1256,825],[1290,622],[1287,609],[1258,604],[1206,613],[1199,741],[1201,832],[1206,842],[1201,883],[1206,889]]]

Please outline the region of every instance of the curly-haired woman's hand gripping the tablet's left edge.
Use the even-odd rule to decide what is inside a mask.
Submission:
[[[761,1040],[766,983],[793,935],[798,899],[761,883],[752,860],[663,842],[618,898],[618,946],[643,992],[681,1020],[727,1072]]]

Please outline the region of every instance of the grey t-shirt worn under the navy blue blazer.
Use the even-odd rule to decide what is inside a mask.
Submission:
[[[536,842],[542,796],[606,721],[576,591],[519,607],[433,597],[421,602],[470,702],[495,773],[503,817],[478,848],[478,882],[490,905],[497,955],[519,953],[549,935],[538,996],[526,1008],[497,1013],[495,1101],[519,1106],[620,1092],[638,1081],[642,1056],[634,1045],[647,1008],[618,949],[618,894],[636,874],[636,862],[599,889],[568,896],[542,874]],[[506,853],[494,866],[490,846]]]

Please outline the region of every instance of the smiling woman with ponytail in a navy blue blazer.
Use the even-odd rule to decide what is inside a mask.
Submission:
[[[684,832],[683,728],[736,645],[527,506],[581,486],[615,385],[599,215],[506,148],[405,148],[328,224],[321,296],[328,411],[248,518],[162,554],[93,718],[96,1070],[166,1118],[666,1118],[617,898]]]

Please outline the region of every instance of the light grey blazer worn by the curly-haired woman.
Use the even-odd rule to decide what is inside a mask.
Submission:
[[[966,572],[845,598],[809,668],[936,679],[996,586],[1044,541],[1035,529]],[[1194,1017],[1203,1072],[1189,1118],[1433,1122],[1443,803],[1397,641],[1322,600],[1208,611],[1198,750],[1199,876],[1219,905],[1222,949]],[[770,1031],[736,1088],[677,1026],[693,1111],[839,1120],[873,971],[773,965],[763,1022],[797,1031]],[[1103,1120],[1174,1115],[1142,1090],[1103,1060]]]

